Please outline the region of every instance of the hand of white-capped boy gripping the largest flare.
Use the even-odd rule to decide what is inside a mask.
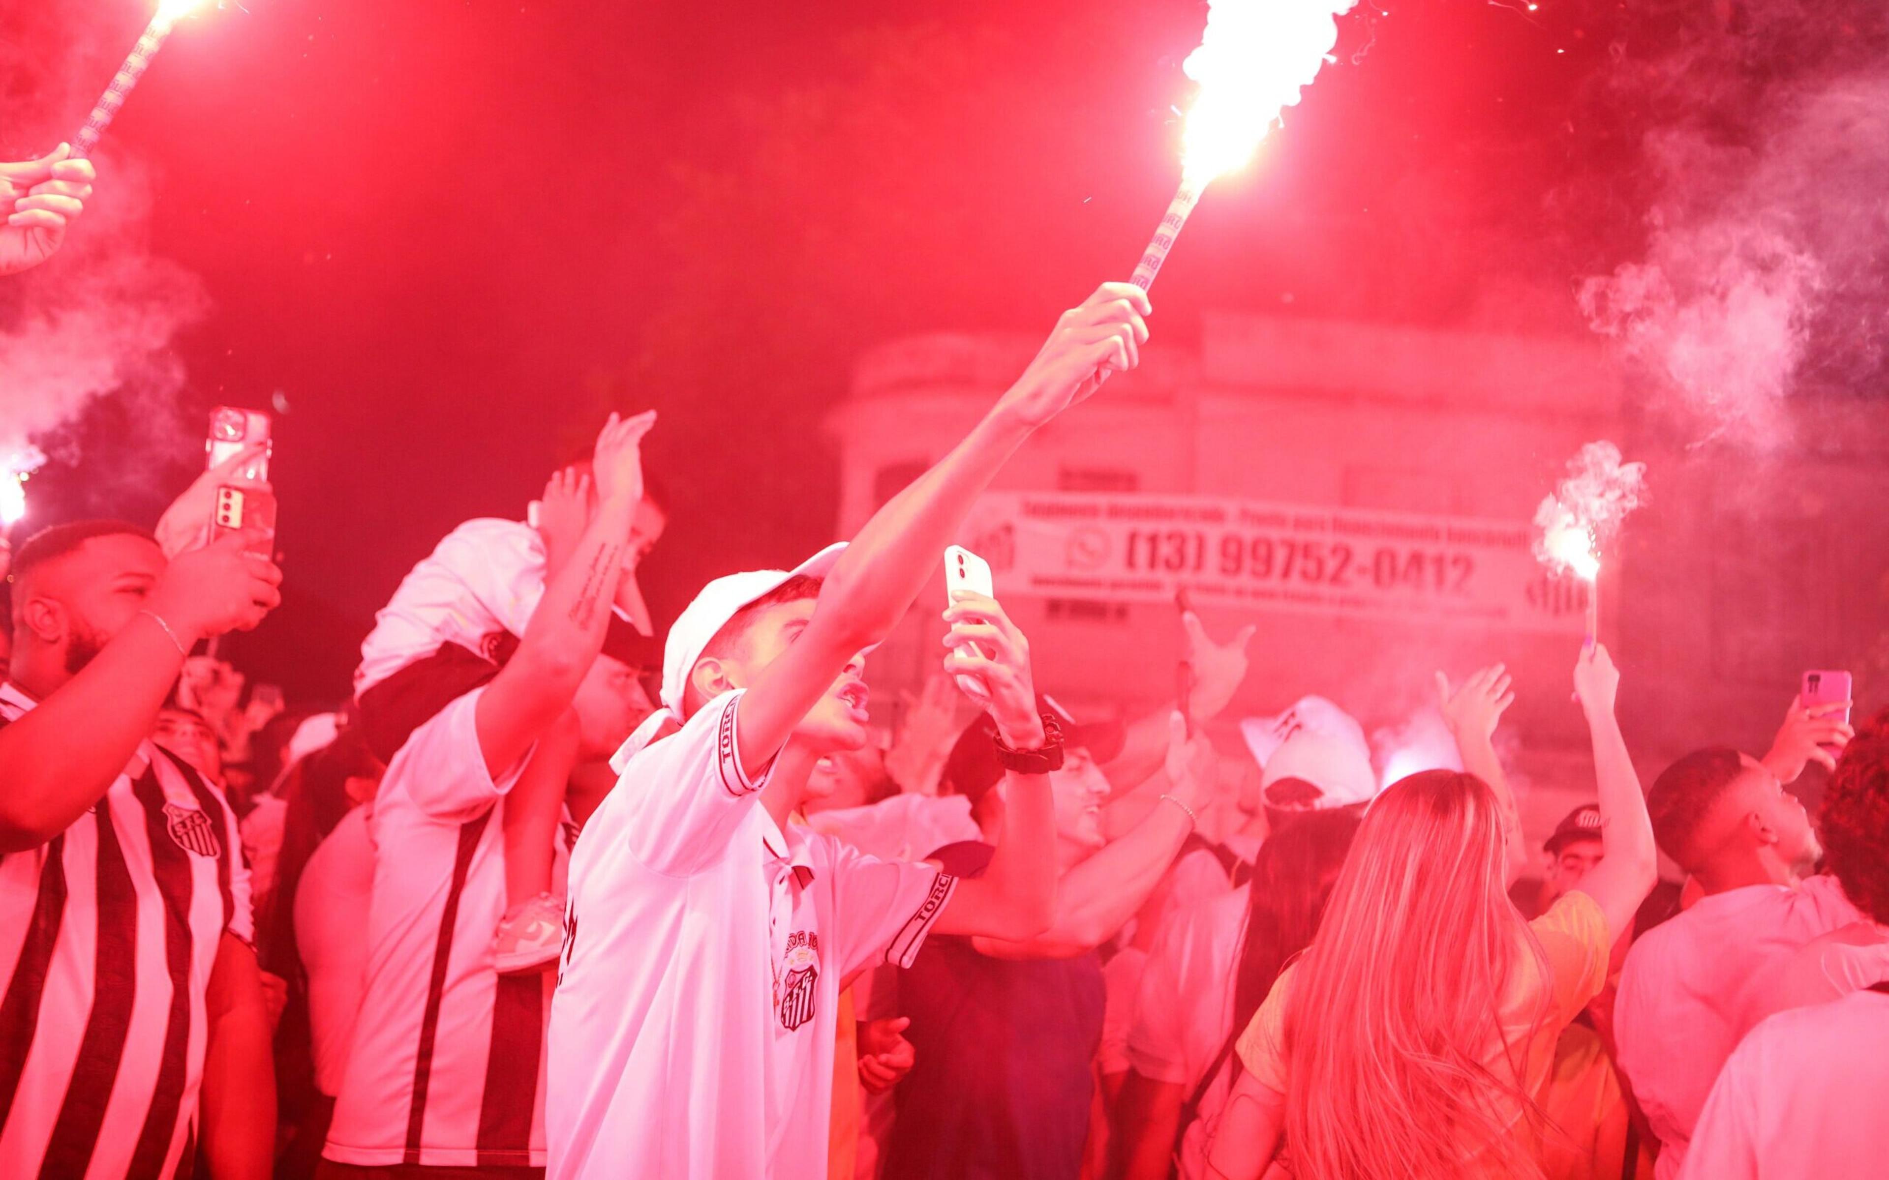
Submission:
[[[1105,372],[1141,362],[1149,340],[1149,293],[1133,283],[1103,283],[1056,321],[1035,361],[997,402],[1026,425],[1041,427],[1101,387]]]

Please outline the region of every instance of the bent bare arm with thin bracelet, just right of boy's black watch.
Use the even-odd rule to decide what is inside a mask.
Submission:
[[[1194,816],[1213,797],[1213,744],[1188,740],[1186,721],[1169,714],[1167,793],[1126,836],[1064,874],[1056,885],[1050,929],[1026,942],[979,938],[977,950],[999,959],[1073,959],[1115,936],[1173,865]]]

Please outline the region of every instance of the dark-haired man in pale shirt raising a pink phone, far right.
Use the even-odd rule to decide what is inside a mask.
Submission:
[[[1840,750],[1855,733],[1842,708],[1793,712],[1764,761],[1723,748],[1689,753],[1647,791],[1660,851],[1706,893],[1634,944],[1613,1001],[1619,1067],[1660,1140],[1659,1180],[1679,1174],[1732,1048],[1778,1012],[1793,957],[1861,919],[1832,878],[1802,876],[1821,848],[1783,785],[1812,757],[1834,761],[1825,746]]]

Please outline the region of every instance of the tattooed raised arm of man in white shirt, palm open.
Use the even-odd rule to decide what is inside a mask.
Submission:
[[[597,436],[597,512],[546,583],[518,651],[478,700],[478,744],[493,778],[518,765],[565,712],[603,651],[610,598],[642,498],[642,436],[654,423],[654,413],[631,419],[612,413]]]

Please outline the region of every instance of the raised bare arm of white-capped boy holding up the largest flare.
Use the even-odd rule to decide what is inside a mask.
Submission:
[[[740,700],[740,763],[759,774],[854,655],[897,625],[963,523],[971,502],[1030,434],[1098,387],[1098,370],[1128,370],[1149,338],[1149,296],[1103,283],[1056,321],[1043,351],[971,434],[892,497],[827,574],[812,619]]]

